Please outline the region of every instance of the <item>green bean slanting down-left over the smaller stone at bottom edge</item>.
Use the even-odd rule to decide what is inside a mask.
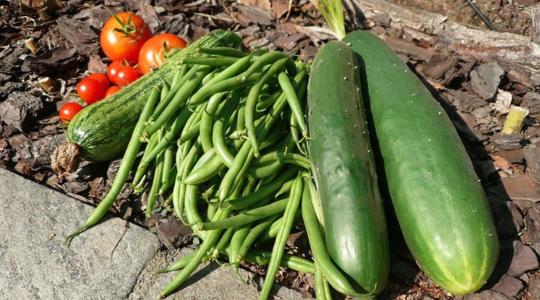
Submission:
[[[228,210],[218,210],[216,213],[216,219],[226,218],[230,214]],[[178,289],[195,271],[195,269],[200,265],[202,259],[207,255],[218,242],[222,230],[214,230],[208,234],[207,239],[203,240],[203,243],[190,260],[190,262],[185,266],[180,273],[171,281],[160,293],[159,298],[163,299]]]

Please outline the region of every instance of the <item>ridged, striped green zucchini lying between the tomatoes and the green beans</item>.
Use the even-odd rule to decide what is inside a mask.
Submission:
[[[67,139],[80,146],[90,161],[109,161],[122,155],[148,94],[162,78],[170,82],[181,58],[200,47],[237,47],[241,39],[233,32],[216,30],[172,55],[159,69],[121,89],[113,96],[89,105],[69,123]]]

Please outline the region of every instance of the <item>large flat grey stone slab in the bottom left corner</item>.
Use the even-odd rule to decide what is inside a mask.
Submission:
[[[158,239],[111,218],[66,248],[92,210],[0,168],[0,299],[127,298]]]

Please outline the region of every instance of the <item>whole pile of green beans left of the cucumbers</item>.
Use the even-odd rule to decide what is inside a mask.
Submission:
[[[170,208],[202,239],[195,253],[162,270],[180,272],[161,297],[203,261],[223,257],[235,268],[268,265],[261,299],[280,266],[315,274],[317,298],[330,299],[327,281],[354,295],[326,252],[315,213],[305,156],[307,79],[308,67],[281,52],[212,48],[185,58],[170,83],[151,91],[111,190],[67,242],[104,217],[134,174],[134,193],[147,192],[147,217]],[[284,253],[299,216],[316,264]],[[271,251],[260,250],[271,241]]]

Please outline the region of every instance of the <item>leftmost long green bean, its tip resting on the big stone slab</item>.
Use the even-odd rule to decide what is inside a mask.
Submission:
[[[116,177],[114,178],[111,189],[109,190],[105,198],[101,200],[98,206],[90,214],[88,219],[86,219],[84,224],[81,227],[79,227],[77,230],[75,230],[75,232],[73,232],[72,234],[66,237],[65,243],[68,247],[71,244],[71,241],[77,235],[79,235],[83,231],[86,231],[88,228],[96,225],[105,216],[105,214],[107,214],[107,211],[113,205],[114,201],[116,200],[116,197],[122,191],[124,183],[126,182],[129,176],[129,172],[131,171],[131,168],[133,167],[133,164],[135,163],[135,159],[137,158],[137,153],[139,152],[139,149],[141,147],[141,141],[139,137],[141,136],[144,130],[146,121],[148,120],[148,118],[150,118],[150,115],[152,114],[152,110],[154,109],[158,98],[159,98],[159,88],[154,87],[152,91],[150,92],[148,101],[144,105],[141,116],[139,117],[139,120],[137,121],[137,124],[135,125],[135,129],[133,131],[131,139],[129,140],[128,146],[126,148],[126,152],[124,153],[124,157],[122,158],[122,162],[120,163],[120,167],[118,168],[118,172],[116,174]]]

